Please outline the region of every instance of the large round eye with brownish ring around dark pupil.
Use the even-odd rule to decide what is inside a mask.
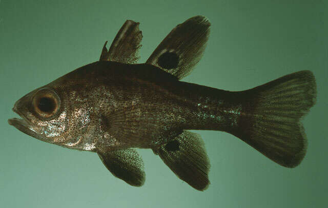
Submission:
[[[32,108],[37,116],[50,118],[55,115],[60,107],[60,99],[50,88],[40,89],[32,98]]]

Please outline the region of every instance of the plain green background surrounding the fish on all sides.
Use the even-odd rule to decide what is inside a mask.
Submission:
[[[1,1],[1,207],[326,207],[327,3],[324,1]],[[140,63],[177,24],[211,23],[209,45],[184,81],[245,90],[312,70],[318,99],[303,120],[308,153],[280,167],[223,132],[198,131],[211,160],[209,189],[179,180],[151,150],[140,150],[146,183],[115,178],[94,153],[51,145],[9,126],[14,102],[99,58],[126,19],[140,22]]]

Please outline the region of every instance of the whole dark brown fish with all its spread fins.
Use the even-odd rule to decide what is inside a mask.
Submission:
[[[194,16],[177,25],[146,63],[137,64],[142,32],[126,20],[100,58],[26,94],[9,124],[61,147],[97,153],[130,185],[145,183],[137,149],[151,149],[181,180],[203,191],[210,184],[204,141],[190,130],[223,131],[282,167],[303,160],[301,119],[316,102],[311,71],[298,71],[244,91],[181,81],[200,61],[211,23]]]

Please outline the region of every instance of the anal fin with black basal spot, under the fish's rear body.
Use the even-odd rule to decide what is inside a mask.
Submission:
[[[153,151],[181,180],[199,191],[207,189],[210,184],[210,162],[200,135],[182,131],[173,140]]]

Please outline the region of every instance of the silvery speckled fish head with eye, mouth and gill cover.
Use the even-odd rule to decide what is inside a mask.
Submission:
[[[95,69],[97,64],[78,68],[26,94],[13,107],[21,118],[8,123],[36,139],[69,149],[95,152],[99,145],[116,145],[103,116],[103,109],[109,109],[107,79],[102,78],[106,69]]]

